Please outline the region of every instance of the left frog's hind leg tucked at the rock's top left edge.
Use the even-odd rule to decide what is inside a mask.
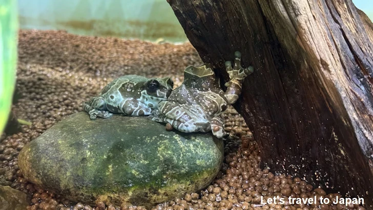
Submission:
[[[109,118],[113,116],[112,113],[103,110],[106,109],[106,102],[102,97],[93,97],[88,102],[83,103],[83,108],[88,112],[91,119],[100,118]]]

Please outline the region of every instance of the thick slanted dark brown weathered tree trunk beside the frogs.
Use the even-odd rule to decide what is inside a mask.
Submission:
[[[254,66],[236,108],[263,166],[373,205],[373,27],[351,0],[168,2],[222,84],[234,51]]]

